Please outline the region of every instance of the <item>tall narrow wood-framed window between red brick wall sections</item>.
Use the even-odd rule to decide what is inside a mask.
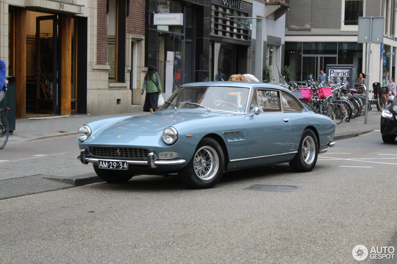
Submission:
[[[108,60],[107,65],[109,69],[109,80],[117,81],[117,0],[108,0]]]

